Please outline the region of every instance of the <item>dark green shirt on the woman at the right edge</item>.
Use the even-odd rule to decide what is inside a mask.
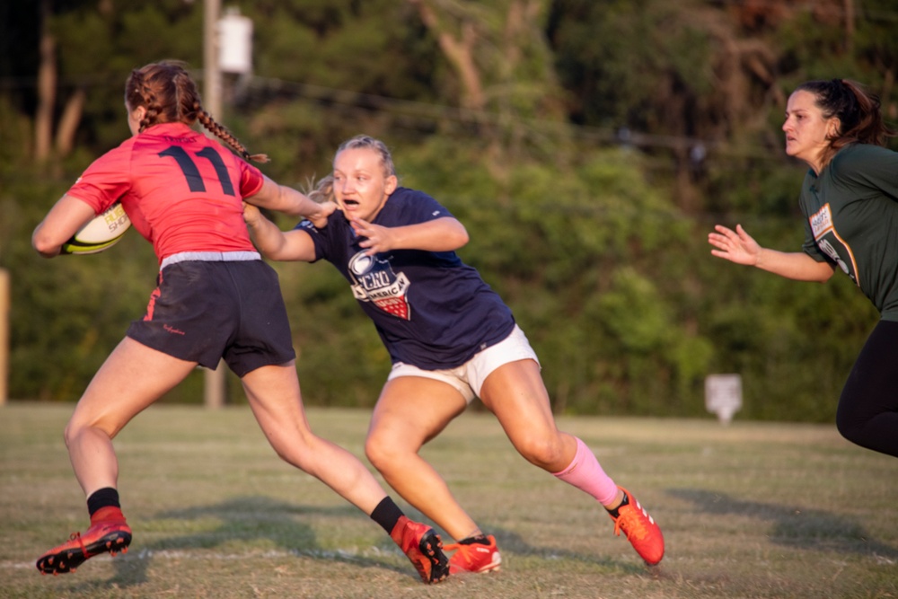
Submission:
[[[883,319],[898,321],[898,154],[846,145],[819,176],[807,172],[798,201],[802,249],[838,265]]]

